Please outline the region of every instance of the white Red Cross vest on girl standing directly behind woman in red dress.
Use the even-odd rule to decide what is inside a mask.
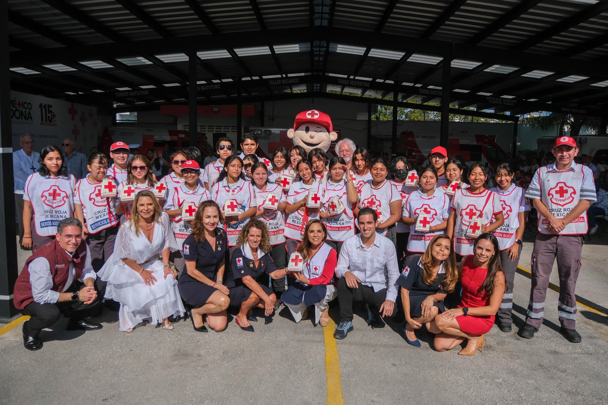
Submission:
[[[454,250],[459,255],[472,255],[475,238],[466,235],[469,224],[475,218],[479,218],[485,226],[491,224],[494,215],[502,213],[500,199],[496,193],[488,189],[481,193],[471,193],[469,189],[458,189],[450,207],[455,214]],[[475,229],[475,231],[477,230]]]

